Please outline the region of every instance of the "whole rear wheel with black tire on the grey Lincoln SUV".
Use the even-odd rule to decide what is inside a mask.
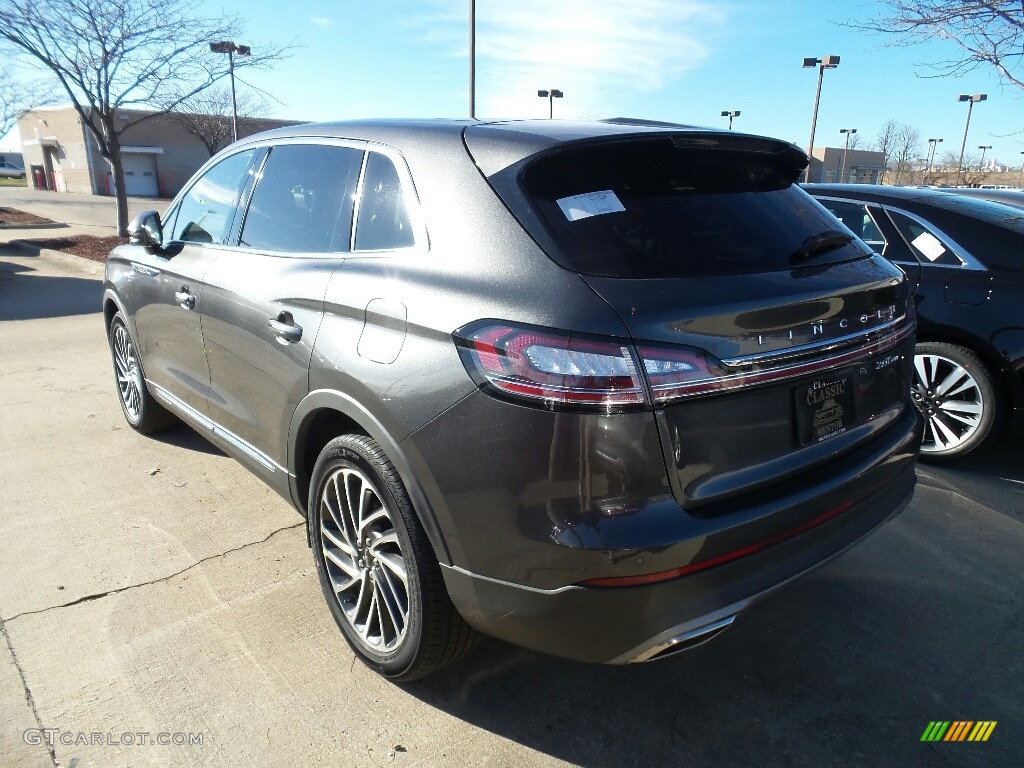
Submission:
[[[447,596],[401,478],[373,439],[348,434],[325,446],[313,469],[308,515],[321,588],[364,664],[410,682],[474,644],[476,633]]]

